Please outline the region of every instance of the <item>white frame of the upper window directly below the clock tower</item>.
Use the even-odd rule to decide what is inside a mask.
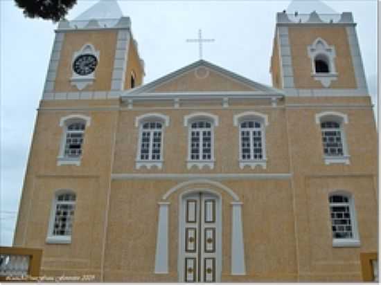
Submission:
[[[72,123],[75,122],[83,122],[85,123],[85,130],[83,131],[83,139],[85,142],[85,134],[86,134],[86,129],[87,127],[90,126],[91,118],[85,115],[80,115],[80,114],[73,114],[69,116],[62,117],[60,119],[60,127],[63,129],[63,134],[61,138],[61,143],[60,143],[60,151],[57,156],[57,165],[76,165],[80,166],[82,156],[78,157],[67,157],[64,155],[65,147],[66,147],[66,139],[67,139],[67,127],[71,125]],[[82,150],[83,150],[83,145],[85,143],[82,143]]]

